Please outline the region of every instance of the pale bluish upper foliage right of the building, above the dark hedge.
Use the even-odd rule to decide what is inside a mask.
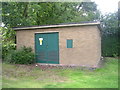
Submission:
[[[104,35],[118,34],[118,12],[102,15],[101,21]]]

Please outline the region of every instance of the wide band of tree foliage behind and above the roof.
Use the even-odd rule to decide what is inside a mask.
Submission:
[[[94,2],[3,2],[2,7],[2,21],[10,27],[99,19],[99,11]]]

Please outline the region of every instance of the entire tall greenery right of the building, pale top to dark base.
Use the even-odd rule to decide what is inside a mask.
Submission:
[[[102,54],[118,56],[118,12],[102,16]]]

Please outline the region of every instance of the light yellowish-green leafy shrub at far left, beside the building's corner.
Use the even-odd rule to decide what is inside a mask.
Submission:
[[[16,44],[15,44],[15,31],[10,28],[8,25],[7,27],[0,27],[0,33],[1,33],[1,41],[2,43],[2,59],[8,55],[8,52],[10,50],[15,50]]]

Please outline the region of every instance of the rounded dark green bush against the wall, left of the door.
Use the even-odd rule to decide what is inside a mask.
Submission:
[[[19,50],[12,50],[6,57],[6,61],[14,64],[35,63],[34,53],[30,47],[22,47]]]

